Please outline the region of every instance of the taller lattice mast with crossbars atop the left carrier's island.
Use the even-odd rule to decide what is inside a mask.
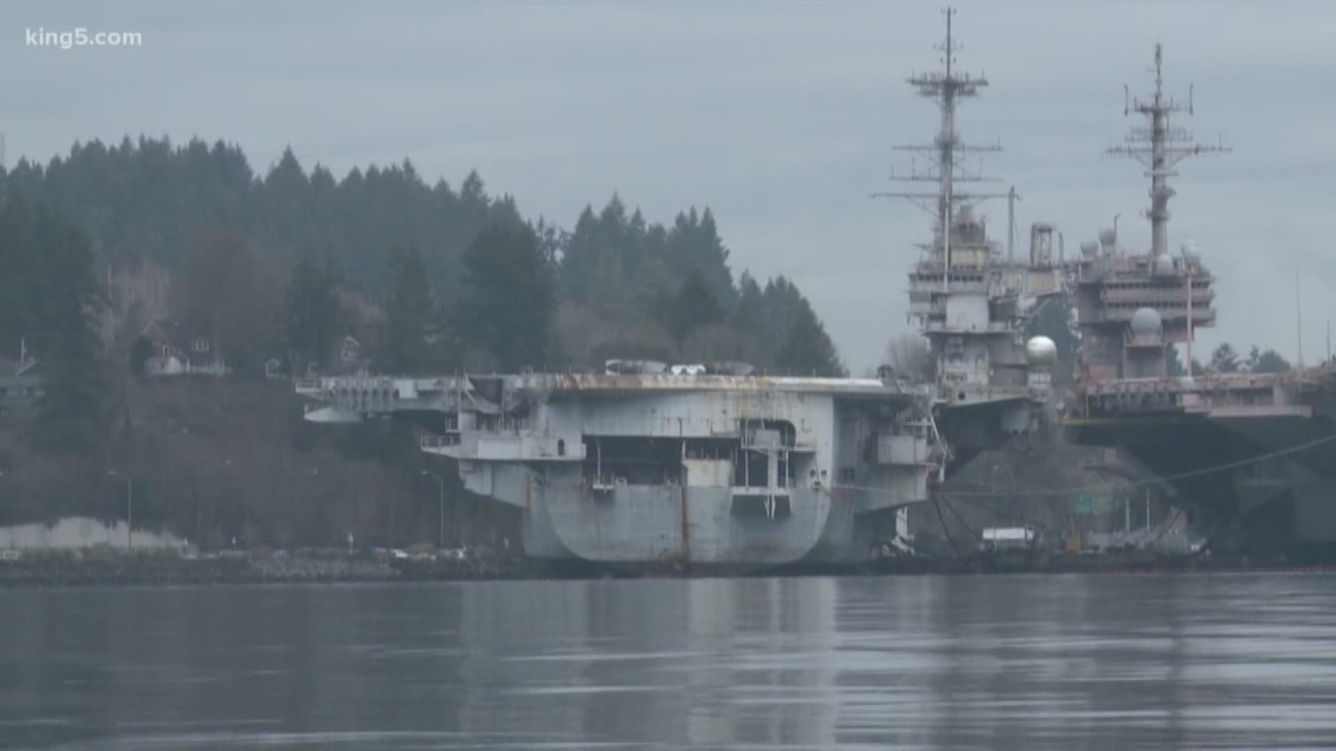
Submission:
[[[985,198],[1002,198],[1006,194],[978,194],[957,191],[957,183],[997,182],[981,174],[970,174],[961,168],[958,156],[969,152],[1001,151],[1001,146],[967,146],[961,142],[955,132],[955,106],[962,99],[978,95],[979,88],[989,84],[987,79],[970,73],[961,73],[955,69],[955,52],[961,45],[951,36],[951,19],[955,8],[945,8],[946,15],[946,41],[935,48],[942,52],[943,68],[923,73],[914,73],[908,79],[910,86],[921,95],[937,102],[941,112],[941,127],[937,138],[930,144],[896,146],[896,151],[912,151],[927,158],[930,166],[925,171],[911,168],[908,175],[896,176],[891,174],[891,180],[937,183],[937,192],[878,192],[874,196],[904,198],[915,206],[937,216],[938,242],[934,243],[934,261],[942,265],[942,287],[949,289],[947,273],[951,267],[951,218],[957,204],[971,204]]]

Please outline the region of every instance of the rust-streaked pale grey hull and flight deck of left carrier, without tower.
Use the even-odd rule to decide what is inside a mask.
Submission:
[[[521,512],[524,552],[613,567],[864,560],[903,532],[942,456],[894,380],[609,361],[601,373],[305,378],[315,422],[422,426],[464,486]]]

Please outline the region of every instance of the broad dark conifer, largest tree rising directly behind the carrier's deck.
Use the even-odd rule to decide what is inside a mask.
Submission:
[[[554,309],[552,275],[533,230],[497,222],[464,254],[465,294],[458,317],[469,342],[497,369],[541,366]]]

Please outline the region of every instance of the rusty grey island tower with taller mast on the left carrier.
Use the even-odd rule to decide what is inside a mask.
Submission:
[[[965,158],[999,151],[1001,146],[971,146],[957,132],[957,104],[987,86],[982,76],[955,65],[958,44],[946,8],[946,40],[938,45],[942,68],[907,79],[938,106],[941,124],[933,143],[896,147],[914,155],[907,174],[892,180],[929,183],[935,190],[876,192],[903,198],[933,216],[933,238],[921,243],[919,261],[908,274],[908,314],[930,343],[933,392],[938,425],[953,450],[953,464],[979,449],[1038,426],[1053,394],[1055,347],[1047,337],[1023,337],[1034,305],[1063,293],[1061,237],[1054,226],[1030,227],[1027,259],[1015,259],[1014,188],[1007,192],[961,190],[962,183],[994,182],[966,168]],[[919,164],[918,160],[923,163]],[[1009,199],[1006,255],[989,238],[975,207],[990,198]]]

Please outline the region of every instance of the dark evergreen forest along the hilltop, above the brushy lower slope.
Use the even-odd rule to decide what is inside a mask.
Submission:
[[[428,184],[407,160],[335,178],[289,150],[261,175],[235,146],[166,139],[92,142],[44,166],[20,162],[0,174],[0,191],[84,231],[99,277],[112,277],[118,350],[150,317],[171,315],[226,330],[215,334],[247,355],[303,354],[291,351],[294,339],[314,349],[326,334],[353,331],[373,345],[379,370],[587,367],[633,354],[843,370],[796,287],[735,279],[708,208],[661,224],[613,195],[562,226],[524,216],[476,172],[458,188]],[[484,234],[489,227],[518,234],[498,246],[509,230]],[[319,323],[330,331],[294,330],[301,285],[341,298],[339,319]]]

